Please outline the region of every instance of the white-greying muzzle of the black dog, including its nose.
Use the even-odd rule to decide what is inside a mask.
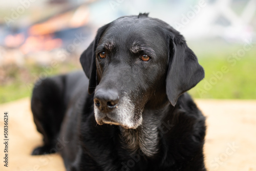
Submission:
[[[99,125],[105,123],[135,129],[142,123],[142,116],[135,113],[135,106],[129,96],[120,96],[115,89],[100,88],[95,91],[94,114]]]

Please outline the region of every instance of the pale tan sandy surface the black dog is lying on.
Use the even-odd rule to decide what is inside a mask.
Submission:
[[[196,100],[207,116],[208,170],[256,170],[256,100]],[[9,112],[9,163],[4,167],[4,112]],[[59,155],[31,156],[41,142],[28,98],[0,105],[0,170],[65,170]]]

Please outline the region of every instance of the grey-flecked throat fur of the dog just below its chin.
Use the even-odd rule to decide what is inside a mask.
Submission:
[[[148,157],[157,154],[160,140],[159,128],[162,125],[162,118],[164,117],[161,115],[166,113],[163,111],[168,110],[169,105],[166,105],[161,111],[144,111],[142,113],[142,124],[137,129],[124,129],[120,126],[120,137],[123,147],[131,153],[136,153],[140,149]]]

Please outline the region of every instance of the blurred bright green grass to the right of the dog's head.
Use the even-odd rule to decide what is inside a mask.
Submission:
[[[215,51],[206,49],[196,53],[205,70],[205,78],[189,91],[190,95],[195,98],[256,99],[256,48],[244,51],[237,59],[231,57],[241,53],[243,46],[219,45]]]

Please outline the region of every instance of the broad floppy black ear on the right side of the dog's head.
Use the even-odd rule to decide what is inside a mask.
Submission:
[[[166,94],[175,106],[179,96],[204,78],[204,69],[197,56],[187,47],[183,36],[172,35],[169,44],[169,68],[166,76]]]

